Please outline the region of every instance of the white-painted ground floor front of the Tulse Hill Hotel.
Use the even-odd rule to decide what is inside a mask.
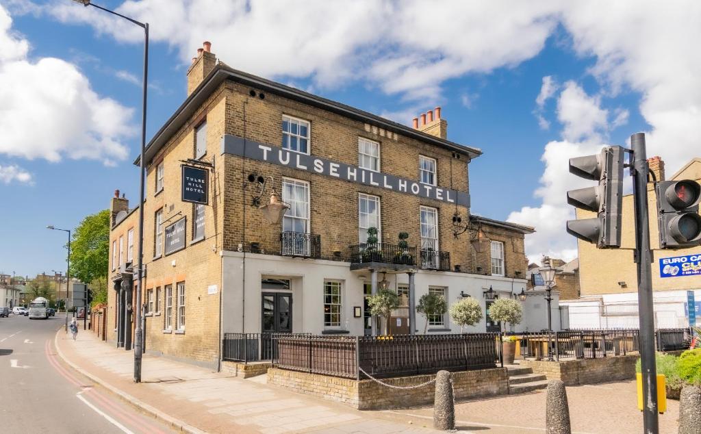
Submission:
[[[409,334],[411,301],[428,292],[444,295],[451,305],[462,297],[474,297],[488,308],[484,292],[491,287],[498,297],[513,297],[526,287],[526,280],[482,276],[451,271],[392,269],[370,266],[353,269],[348,262],[302,259],[240,252],[222,253],[222,332],[306,332],[312,334],[372,334],[372,319],[365,298],[372,294],[373,281],[379,287],[386,279],[400,294],[402,307],[390,318],[390,332]],[[356,267],[357,268],[357,267]],[[374,276],[373,276],[374,274]],[[413,274],[413,278],[411,278]],[[411,281],[413,280],[413,285]],[[411,288],[414,297],[411,297]],[[547,328],[545,291],[529,291],[522,301],[524,320],[508,330],[539,331]],[[552,328],[560,330],[557,291],[552,292]],[[413,300],[412,300],[413,298]],[[485,315],[486,317],[486,315]],[[418,334],[459,333],[461,327],[448,314],[426,318],[416,314]],[[376,324],[383,332],[384,323]],[[500,325],[488,318],[464,332],[495,332]]]

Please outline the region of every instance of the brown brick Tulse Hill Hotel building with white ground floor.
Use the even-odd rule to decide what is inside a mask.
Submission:
[[[209,43],[187,81],[144,157],[149,351],[213,365],[226,332],[370,334],[382,324],[365,297],[385,286],[402,300],[391,330],[423,331],[421,316],[409,326],[423,294],[485,303],[489,288],[526,286],[533,228],[470,215],[482,151],[447,140],[440,107],[411,128],[232,69]],[[181,200],[182,165],[207,172],[206,205]],[[273,191],[290,207],[275,224]],[[108,339],[129,348],[138,211],[118,191],[111,211]],[[460,330],[447,315],[428,323]]]

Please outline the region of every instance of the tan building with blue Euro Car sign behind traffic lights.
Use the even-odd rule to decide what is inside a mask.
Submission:
[[[660,157],[649,158],[655,178],[665,180],[665,163]],[[670,180],[693,179],[701,182],[701,158],[693,158]],[[579,241],[581,299],[563,301],[569,306],[571,327],[638,327],[637,270],[630,249],[635,244],[633,196],[623,197],[622,238],[620,249],[599,250],[596,245]],[[663,276],[664,262],[672,257],[686,257],[696,266],[701,264],[701,247],[660,250],[657,203],[653,183],[648,184],[650,210],[650,245],[653,249],[653,299],[655,325],[687,327],[687,291],[695,294],[695,309],[701,316],[701,275]],[[594,217],[577,210],[578,219]],[[695,259],[692,259],[695,258]]]

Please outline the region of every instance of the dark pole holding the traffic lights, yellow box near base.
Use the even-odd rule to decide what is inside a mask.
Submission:
[[[645,134],[630,136],[631,175],[635,208],[635,262],[638,273],[640,319],[640,360],[643,377],[643,428],[646,434],[658,434],[657,369],[655,367],[655,313],[648,222],[648,161]]]

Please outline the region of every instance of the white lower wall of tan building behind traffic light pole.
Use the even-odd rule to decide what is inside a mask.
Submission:
[[[699,315],[701,289],[694,290],[695,309]],[[653,292],[655,327],[688,327],[686,290]],[[582,297],[579,300],[562,301],[562,306],[569,309],[571,328],[595,327],[639,327],[638,293],[601,294]]]

